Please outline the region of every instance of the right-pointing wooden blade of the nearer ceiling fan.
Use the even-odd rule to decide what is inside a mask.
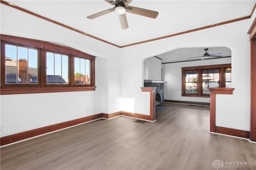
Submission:
[[[143,8],[138,8],[134,6],[127,6],[126,12],[130,12],[132,14],[137,14],[140,16],[145,16],[149,18],[156,18],[158,16],[158,12],[152,10],[146,10]]]

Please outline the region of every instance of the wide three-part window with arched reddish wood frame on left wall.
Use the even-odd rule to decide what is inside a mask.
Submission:
[[[94,79],[94,56],[46,41],[1,35],[1,94],[90,91],[96,88]]]

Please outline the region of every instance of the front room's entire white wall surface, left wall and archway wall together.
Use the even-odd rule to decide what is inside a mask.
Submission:
[[[120,111],[126,109],[122,103],[125,99],[134,107],[129,110],[149,115],[149,93],[140,89],[146,58],[177,48],[220,46],[232,51],[235,90],[233,95],[217,96],[216,125],[248,131],[250,46],[247,31],[252,20],[118,49],[1,4],[2,34],[61,43],[97,57],[94,92],[1,95],[1,126],[4,125],[1,137],[87,115]]]

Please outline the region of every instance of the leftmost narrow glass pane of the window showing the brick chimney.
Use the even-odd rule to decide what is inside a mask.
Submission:
[[[5,82],[17,84],[17,47],[13,45],[5,45]]]

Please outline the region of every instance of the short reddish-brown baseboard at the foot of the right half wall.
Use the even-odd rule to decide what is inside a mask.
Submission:
[[[231,136],[249,139],[249,131],[244,131],[244,130],[240,130],[240,129],[232,129],[232,128],[228,128],[228,127],[216,126],[215,132],[222,133],[224,135],[231,135]]]

